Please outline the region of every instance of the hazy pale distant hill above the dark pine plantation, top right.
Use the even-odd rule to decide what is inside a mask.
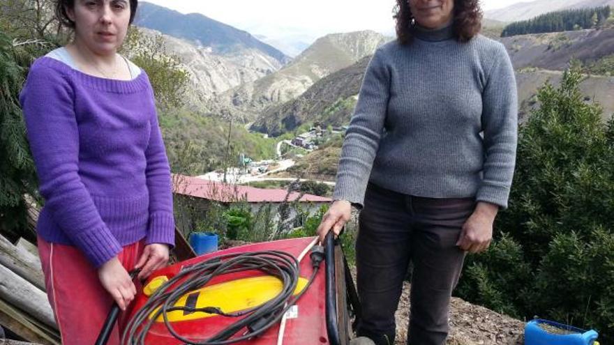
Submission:
[[[614,6],[614,0],[537,0],[519,2],[497,10],[488,10],[484,13],[484,17],[491,20],[499,20],[500,22],[517,22],[556,10],[591,8],[606,5]]]

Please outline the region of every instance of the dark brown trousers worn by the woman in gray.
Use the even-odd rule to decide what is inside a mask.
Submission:
[[[368,185],[356,244],[359,336],[394,344],[394,313],[411,261],[407,344],[445,344],[451,293],[465,258],[456,241],[474,208],[473,198],[413,197]]]

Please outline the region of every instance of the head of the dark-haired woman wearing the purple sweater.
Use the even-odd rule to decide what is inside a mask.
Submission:
[[[75,40],[94,54],[115,54],[130,24],[128,0],[75,0],[66,11],[75,22]]]

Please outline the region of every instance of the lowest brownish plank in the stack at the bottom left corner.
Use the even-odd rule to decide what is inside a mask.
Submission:
[[[3,328],[11,330],[28,342],[61,345],[59,332],[38,328],[32,321],[31,316],[0,299],[0,325]]]

